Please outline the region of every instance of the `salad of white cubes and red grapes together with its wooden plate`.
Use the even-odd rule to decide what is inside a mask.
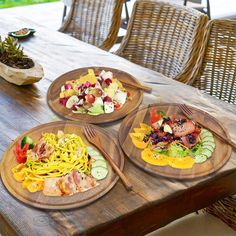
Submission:
[[[51,109],[66,119],[106,123],[138,108],[143,97],[139,85],[124,71],[80,68],[58,77],[48,89],[47,100]]]

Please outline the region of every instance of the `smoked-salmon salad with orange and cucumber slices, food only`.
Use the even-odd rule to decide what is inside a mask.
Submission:
[[[152,165],[192,168],[212,156],[215,141],[212,133],[180,115],[165,115],[157,108],[150,110],[150,124],[140,123],[129,133],[140,149],[142,159]]]

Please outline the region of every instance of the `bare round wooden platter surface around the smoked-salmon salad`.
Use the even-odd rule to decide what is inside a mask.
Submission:
[[[178,104],[162,103],[143,107],[138,111],[132,112],[123,120],[119,130],[120,145],[125,154],[129,157],[129,159],[141,169],[153,175],[162,175],[165,177],[172,177],[178,179],[191,179],[213,173],[219,168],[221,168],[228,161],[232,152],[232,148],[216,136],[214,136],[216,148],[212,154],[212,157],[202,164],[194,164],[194,166],[190,169],[176,169],[170,166],[155,166],[143,161],[141,158],[142,150],[136,148],[133,145],[129,133],[134,132],[134,128],[140,127],[141,122],[150,124],[149,110],[151,107],[156,107],[158,111],[164,111],[167,115],[179,114],[183,116],[183,113],[178,108]],[[199,121],[204,121],[206,127],[212,127],[219,133],[222,133],[226,137],[229,137],[229,134],[226,129],[214,117],[196,108],[189,108],[197,114]]]

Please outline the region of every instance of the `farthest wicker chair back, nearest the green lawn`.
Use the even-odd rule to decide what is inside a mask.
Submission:
[[[122,0],[73,0],[59,31],[109,50],[121,24]]]

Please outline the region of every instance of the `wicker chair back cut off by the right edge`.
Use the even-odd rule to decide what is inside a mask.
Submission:
[[[193,86],[236,104],[236,20],[210,21],[200,54]]]

